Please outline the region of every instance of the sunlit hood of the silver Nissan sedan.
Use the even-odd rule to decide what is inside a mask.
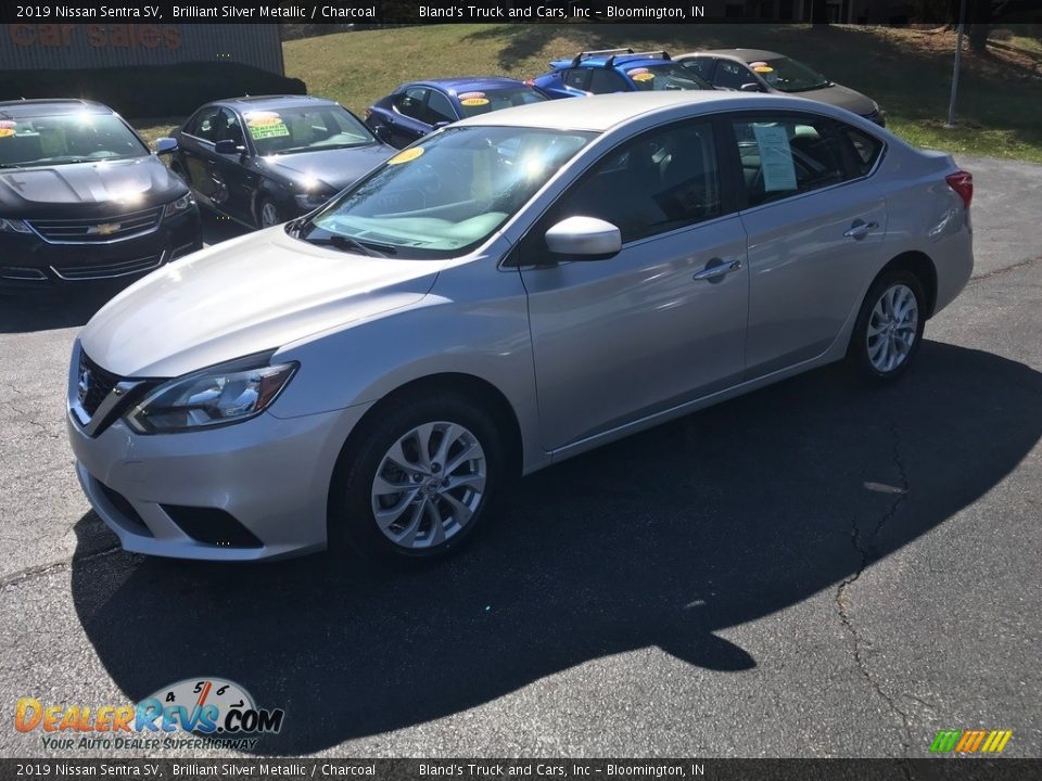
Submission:
[[[149,274],[91,318],[80,344],[120,376],[178,376],[415,304],[440,268],[316,247],[277,226]]]

